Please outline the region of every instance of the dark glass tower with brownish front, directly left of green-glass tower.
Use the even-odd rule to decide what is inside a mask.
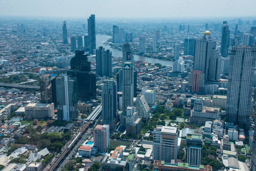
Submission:
[[[56,77],[52,77],[51,74],[43,74],[39,80],[41,103],[54,103],[57,107],[56,98]]]

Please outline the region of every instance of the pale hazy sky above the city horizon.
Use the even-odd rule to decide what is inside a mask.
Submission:
[[[254,17],[255,5],[254,0],[0,0],[0,15],[84,18],[95,14],[98,18],[176,19]]]

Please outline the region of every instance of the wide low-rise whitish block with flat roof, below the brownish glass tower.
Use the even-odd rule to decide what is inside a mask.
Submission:
[[[54,115],[54,103],[29,103],[25,106],[25,117],[28,119],[45,119]]]

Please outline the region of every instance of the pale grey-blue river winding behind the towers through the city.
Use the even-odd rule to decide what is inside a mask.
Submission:
[[[96,35],[96,47],[103,46],[105,48],[105,50],[109,49],[112,52],[112,56],[122,56],[123,55],[122,51],[110,48],[109,45],[104,45],[103,44],[109,38],[112,38],[112,37],[111,36],[106,36],[106,35]],[[135,61],[141,60],[143,62],[148,62],[148,63],[161,63],[162,65],[173,66],[173,61],[150,58],[150,57],[145,57],[145,56],[138,56],[138,55],[133,55],[133,57],[134,57]]]

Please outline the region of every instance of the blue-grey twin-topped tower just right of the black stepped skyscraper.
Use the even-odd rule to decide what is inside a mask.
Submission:
[[[98,75],[112,76],[112,52],[102,46],[96,50],[96,73]]]

